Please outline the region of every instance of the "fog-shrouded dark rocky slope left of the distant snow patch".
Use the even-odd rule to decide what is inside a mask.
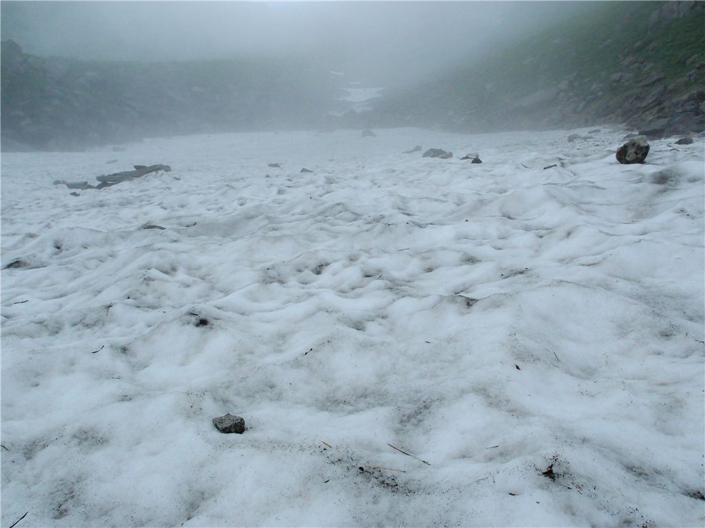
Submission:
[[[71,150],[199,132],[315,127],[340,91],[304,61],[114,63],[2,43],[2,150]]]

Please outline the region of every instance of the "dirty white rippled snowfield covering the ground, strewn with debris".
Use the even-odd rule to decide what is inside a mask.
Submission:
[[[2,525],[701,526],[703,140],[571,132],[4,154]]]

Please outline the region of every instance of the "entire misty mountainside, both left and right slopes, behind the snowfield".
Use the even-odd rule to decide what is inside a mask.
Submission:
[[[6,41],[1,148],[292,127],[488,132],[621,122],[651,137],[705,128],[705,2],[596,2],[578,11],[347,113],[341,79],[310,58],[87,62],[30,56]]]

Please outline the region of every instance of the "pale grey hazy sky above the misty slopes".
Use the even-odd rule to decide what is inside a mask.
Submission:
[[[3,1],[26,53],[116,60],[293,55],[367,82],[413,80],[537,30],[577,2]]]

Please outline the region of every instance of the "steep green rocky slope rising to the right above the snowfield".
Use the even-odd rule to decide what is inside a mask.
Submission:
[[[621,122],[705,128],[705,2],[603,2],[540,36],[380,101],[364,125],[467,132]]]

